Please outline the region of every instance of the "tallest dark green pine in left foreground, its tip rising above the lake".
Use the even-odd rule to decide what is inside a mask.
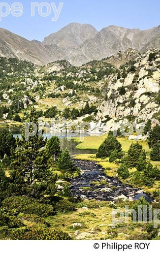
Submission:
[[[31,111],[30,122],[37,124],[37,116],[34,109]],[[38,124],[37,124],[38,125]],[[30,128],[32,131],[32,128]],[[25,140],[25,130],[23,130],[21,139],[17,138],[17,148],[12,154],[11,183],[17,193],[24,193],[28,186],[40,182],[47,172],[47,156],[44,146],[46,140],[38,135],[38,129],[35,135]],[[16,186],[14,186],[16,184]],[[22,189],[21,189],[22,188]],[[28,188],[29,189],[29,188]],[[33,194],[33,191],[32,191]]]

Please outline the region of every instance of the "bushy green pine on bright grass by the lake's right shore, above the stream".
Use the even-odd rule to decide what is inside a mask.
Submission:
[[[112,135],[111,132],[108,133],[108,137],[103,141],[103,143],[98,148],[96,153],[96,158],[109,157],[113,150],[118,152],[122,151],[121,143]]]

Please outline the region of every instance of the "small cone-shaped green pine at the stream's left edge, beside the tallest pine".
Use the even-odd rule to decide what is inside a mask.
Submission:
[[[73,170],[73,167],[74,167],[73,160],[67,148],[60,154],[60,157],[58,159],[58,166],[60,169],[64,171]]]

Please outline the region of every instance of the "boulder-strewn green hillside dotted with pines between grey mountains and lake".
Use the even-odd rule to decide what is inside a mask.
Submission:
[[[87,102],[93,112],[85,114],[81,110]],[[12,119],[18,112],[25,121],[30,105],[43,118],[51,107],[57,108],[58,117],[64,116],[65,108],[77,109],[75,123],[89,121],[93,132],[114,129],[115,122],[158,122],[160,49],[144,54],[128,49],[81,67],[67,61],[39,67],[16,58],[0,58],[0,117]]]

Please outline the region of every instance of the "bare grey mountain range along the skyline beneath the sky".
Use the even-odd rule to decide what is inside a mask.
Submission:
[[[159,47],[160,26],[142,31],[111,25],[98,32],[88,24],[70,23],[45,37],[42,42],[30,41],[0,29],[1,57],[16,57],[38,65],[67,60],[72,65],[80,66],[128,48],[143,53]]]

